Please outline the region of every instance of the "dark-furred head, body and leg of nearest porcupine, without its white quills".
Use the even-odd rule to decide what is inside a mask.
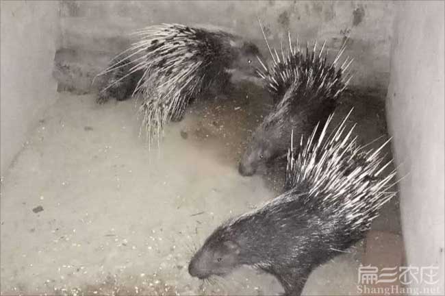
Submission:
[[[286,295],[300,295],[312,270],[339,254],[334,249],[364,236],[351,234],[345,217],[307,207],[301,194],[285,193],[288,201],[218,227],[192,258],[190,275],[225,275],[244,264],[275,275]]]

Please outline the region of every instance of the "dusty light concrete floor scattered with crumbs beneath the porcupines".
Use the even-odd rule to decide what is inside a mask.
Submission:
[[[92,95],[60,94],[1,182],[1,294],[282,293],[253,269],[214,285],[187,271],[217,225],[279,191],[280,176],[241,177],[236,168],[264,113],[256,91],[194,104],[152,151],[138,138],[133,100],[97,106]],[[375,101],[346,98],[340,106],[358,106],[366,142],[385,133]],[[398,201],[374,228],[400,232]],[[359,243],[316,269],[305,294],[357,294],[362,253]]]

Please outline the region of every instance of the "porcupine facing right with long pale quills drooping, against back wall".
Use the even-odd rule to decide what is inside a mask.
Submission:
[[[203,90],[225,86],[234,69],[251,71],[250,63],[259,54],[253,43],[218,29],[162,24],[141,29],[136,36],[140,40],[101,74],[120,77],[108,88],[139,77],[136,86],[130,82],[123,87],[133,88],[142,100],[139,114],[149,138],[159,138],[168,121],[181,120],[188,103]]]

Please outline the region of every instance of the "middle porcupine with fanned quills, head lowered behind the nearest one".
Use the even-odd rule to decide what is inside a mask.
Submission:
[[[258,59],[262,69],[258,69],[257,73],[264,79],[275,106],[253,133],[241,158],[238,171],[244,176],[253,175],[258,167],[285,156],[292,130],[299,138],[311,134],[318,123],[324,125],[351,79],[345,71],[352,59],[346,58],[342,65],[338,65],[345,45],[329,63],[327,52],[324,53],[325,44],[320,51],[316,49],[316,42],[312,49],[306,45],[302,51],[298,38],[292,44],[289,33],[289,51],[284,53],[281,44],[279,55],[275,49],[272,52],[265,35],[264,39],[272,64],[268,67]]]

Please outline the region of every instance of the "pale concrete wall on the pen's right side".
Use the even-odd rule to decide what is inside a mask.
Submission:
[[[408,264],[440,267],[444,295],[444,2],[400,2],[387,119],[394,137]],[[413,286],[431,287],[426,282]]]

